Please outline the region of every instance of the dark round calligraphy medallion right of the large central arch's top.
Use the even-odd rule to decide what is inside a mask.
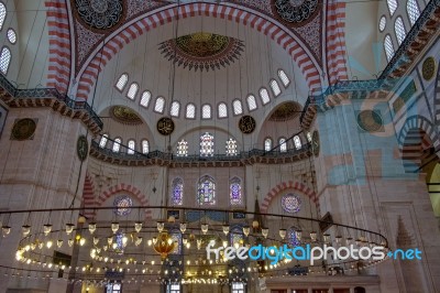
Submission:
[[[318,12],[319,0],[273,0],[273,6],[284,21],[301,23]]]

